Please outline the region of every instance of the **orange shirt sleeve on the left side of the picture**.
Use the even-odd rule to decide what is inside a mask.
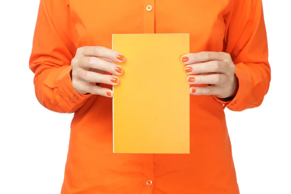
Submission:
[[[58,113],[75,113],[92,96],[72,87],[70,64],[76,48],[69,17],[66,0],[40,0],[29,62],[38,101]]]

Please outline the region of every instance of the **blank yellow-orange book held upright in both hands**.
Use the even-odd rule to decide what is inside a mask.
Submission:
[[[189,34],[113,34],[125,56],[113,86],[114,153],[190,153]]]

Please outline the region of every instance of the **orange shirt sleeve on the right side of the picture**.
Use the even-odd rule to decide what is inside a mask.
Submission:
[[[224,108],[243,111],[261,105],[269,90],[271,69],[262,0],[232,0],[226,15],[226,52],[236,65],[238,92]]]

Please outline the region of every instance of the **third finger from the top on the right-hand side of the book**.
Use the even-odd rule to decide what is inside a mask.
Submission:
[[[220,85],[227,81],[226,74],[191,75],[187,77],[189,84],[214,84]]]

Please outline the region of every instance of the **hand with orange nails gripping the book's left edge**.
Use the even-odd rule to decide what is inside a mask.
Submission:
[[[125,57],[112,49],[105,47],[86,46],[77,49],[72,59],[72,85],[80,94],[94,94],[113,97],[113,91],[97,86],[96,83],[117,85],[119,79],[114,75],[121,75],[123,68],[113,62],[123,62]]]

